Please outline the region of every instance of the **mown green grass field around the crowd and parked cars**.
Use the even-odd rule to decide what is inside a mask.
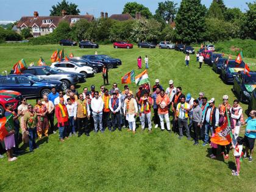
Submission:
[[[0,71],[8,70],[20,59],[26,63],[37,63],[43,57],[47,64],[52,52],[59,45],[44,46],[0,46]],[[65,47],[65,52],[75,56],[94,54],[95,49]],[[197,98],[204,91],[208,99],[221,103],[222,95],[228,94],[230,102],[235,99],[232,85],[225,85],[210,66],[198,69],[195,55],[191,55],[190,67],[185,66],[182,52],[167,49],[113,49],[111,45],[101,46],[98,54],[108,54],[122,60],[123,65],[109,72],[110,84],[118,83],[122,88],[121,76],[137,69],[137,57],[149,57],[151,85],[160,79],[164,88],[168,80],[182,87],[183,93]],[[244,59],[256,63],[256,59]],[[144,66],[143,66],[144,67]],[[256,69],[255,66],[251,66]],[[101,74],[88,78],[77,89],[99,86],[103,83]],[[107,86],[111,88],[112,85]],[[132,91],[135,84],[129,85]],[[34,103],[33,101],[30,101]],[[246,104],[242,104],[244,110]],[[244,132],[244,127],[241,132]],[[242,134],[243,135],[243,134]],[[222,157],[212,160],[208,157],[209,146],[193,146],[193,141],[177,135],[154,129],[137,133],[113,132],[91,133],[91,137],[71,137],[60,143],[58,135],[42,140],[34,153],[18,157],[16,162],[0,160],[0,191],[255,191],[255,160],[241,163],[239,177],[233,177],[235,168],[233,152],[230,159]],[[256,155],[254,155],[256,159]]]

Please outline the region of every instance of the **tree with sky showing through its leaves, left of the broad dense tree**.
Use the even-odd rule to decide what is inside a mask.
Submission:
[[[155,10],[155,19],[161,23],[174,21],[177,13],[177,3],[173,1],[158,2],[158,8]]]

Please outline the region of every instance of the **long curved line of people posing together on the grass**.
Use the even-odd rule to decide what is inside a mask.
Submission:
[[[57,118],[61,142],[73,135],[78,134],[80,137],[85,133],[89,137],[91,131],[103,133],[106,129],[114,132],[116,129],[121,131],[127,127],[128,132],[136,133],[137,121],[141,124],[141,130],[148,127],[149,133],[152,132],[152,121],[155,128],[160,126],[162,131],[165,130],[166,123],[166,130],[171,133],[169,116],[172,116],[172,132],[179,134],[180,140],[184,133],[188,140],[193,137],[194,146],[199,144],[199,140],[203,141],[202,146],[210,143],[211,158],[216,158],[218,145],[210,141],[209,133],[213,137],[218,127],[230,124],[233,140],[226,146],[221,146],[221,154],[224,158],[229,158],[230,149],[233,148],[234,154],[241,156],[239,145],[243,141],[246,146],[244,157],[248,157],[249,162],[252,162],[256,138],[256,111],[252,110],[250,117],[244,120],[243,109],[238,100],[235,99],[233,105],[230,105],[229,97],[224,95],[222,104],[216,107],[215,98],[208,101],[202,92],[197,99],[190,93],[185,96],[181,87],[174,87],[173,80],[169,80],[166,90],[160,85],[160,80],[156,79],[153,87],[149,84],[140,85],[134,94],[127,85],[123,91],[119,90],[116,83],[110,90],[102,85],[100,91],[96,91],[95,86],[91,85],[90,90],[85,87],[82,93],[78,93],[74,85],[66,89],[65,94],[62,90],[57,93],[55,88],[52,88],[48,96],[43,96],[43,101],[36,100],[34,107],[27,104],[26,98],[21,100],[18,113],[14,112],[12,104],[5,107],[5,116],[12,113],[15,122],[15,130],[4,139],[10,161],[16,160],[12,155],[12,148],[14,147],[15,153],[19,150],[20,127],[23,134],[29,138],[29,150],[32,152],[37,148],[36,138],[40,140],[43,136],[48,137],[49,133],[56,133],[54,116]],[[151,108],[154,111],[153,118]],[[241,125],[246,123],[246,133],[242,140],[238,135]],[[238,175],[239,168],[233,174]]]

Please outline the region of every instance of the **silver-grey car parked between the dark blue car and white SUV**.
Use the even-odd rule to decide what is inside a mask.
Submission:
[[[62,89],[66,90],[69,88],[71,84],[76,85],[79,82],[85,82],[84,74],[80,74],[82,76],[82,80],[79,81],[79,77],[77,73],[70,73],[65,71],[58,71],[49,66],[31,66],[23,71],[24,74],[33,74],[34,76],[41,77],[43,79],[49,80],[60,80],[62,82]],[[13,70],[10,74],[13,74]],[[80,78],[81,79],[81,78]]]

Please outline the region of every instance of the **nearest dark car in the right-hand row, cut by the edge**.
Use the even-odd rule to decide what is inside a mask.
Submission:
[[[233,92],[241,102],[249,102],[251,93],[256,88],[256,71],[251,71],[249,75],[247,76],[241,71],[234,77]]]

